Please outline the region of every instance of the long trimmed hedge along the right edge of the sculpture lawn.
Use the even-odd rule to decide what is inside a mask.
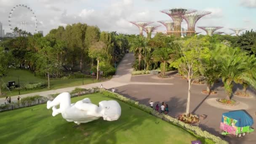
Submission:
[[[213,134],[209,133],[208,131],[203,131],[201,128],[197,127],[197,126],[192,126],[190,124],[184,123],[179,121],[176,118],[173,118],[169,115],[163,115],[160,114],[159,112],[155,111],[154,109],[152,109],[151,107],[147,107],[144,104],[139,104],[138,101],[133,101],[129,98],[126,98],[118,93],[112,93],[110,91],[104,90],[104,89],[100,89],[100,92],[103,93],[106,96],[115,98],[115,99],[119,99],[120,101],[125,102],[126,104],[129,104],[133,107],[136,107],[138,109],[141,109],[144,112],[147,112],[151,115],[154,115],[155,117],[158,117],[160,119],[163,119],[165,121],[171,122],[174,125],[177,125],[181,128],[186,129],[187,131],[191,131],[192,133],[195,133],[196,135],[203,137],[205,139],[211,139],[212,141],[214,141],[216,144],[228,144],[227,141],[222,140],[220,137],[218,136],[214,136]]]

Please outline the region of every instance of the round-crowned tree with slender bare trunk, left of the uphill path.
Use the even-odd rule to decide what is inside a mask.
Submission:
[[[107,51],[105,49],[107,45],[102,42],[96,42],[89,48],[89,56],[91,58],[96,58],[97,60],[97,80],[99,79],[99,63],[101,60],[106,59]]]

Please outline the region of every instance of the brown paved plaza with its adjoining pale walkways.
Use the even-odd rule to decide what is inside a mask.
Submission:
[[[99,87],[103,84],[104,88],[115,88],[117,93],[120,93],[128,98],[139,101],[142,104],[149,105],[150,101],[155,104],[160,104],[163,101],[169,105],[169,115],[176,117],[186,111],[187,104],[187,80],[181,79],[181,77],[175,76],[175,72],[171,74],[171,78],[159,79],[156,75],[137,75],[131,76],[132,63],[134,57],[132,53],[125,54],[123,60],[117,67],[116,75],[109,81],[103,83],[93,83],[89,85],[80,85],[70,88],[61,88],[51,91],[43,91],[38,93],[30,93],[25,96],[33,96],[39,94],[40,96],[48,96],[49,94],[61,93],[64,91],[72,91],[77,87],[80,88],[93,88]],[[223,112],[231,110],[244,109],[246,110],[254,120],[256,120],[256,98],[241,98],[234,96],[233,99],[240,101],[238,106],[224,106],[215,104],[214,99],[225,98],[224,88],[221,87],[221,83],[214,85],[214,89],[218,92],[217,95],[205,95],[201,93],[206,89],[205,85],[192,85],[191,98],[190,98],[190,112],[196,115],[207,115],[205,120],[201,120],[199,127],[203,128],[216,136],[219,134],[219,125],[221,122],[221,116]],[[240,90],[239,86],[236,86],[235,90]],[[253,96],[254,91],[248,90]],[[12,99],[16,99],[17,96],[13,96]],[[3,103],[4,98],[0,99],[0,103]],[[255,124],[253,125],[255,127]],[[171,134],[171,133],[170,133]],[[224,140],[229,141],[232,144],[255,144],[256,132],[249,133],[242,138],[236,138],[235,136],[226,136]]]

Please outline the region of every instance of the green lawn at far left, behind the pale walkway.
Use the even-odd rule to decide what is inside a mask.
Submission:
[[[35,75],[32,72],[29,72],[27,70],[22,69],[10,69],[8,71],[8,76],[2,77],[3,81],[5,83],[8,83],[8,81],[15,81],[16,84],[18,84],[18,77],[19,77],[19,83],[28,83],[28,82],[45,82],[45,84],[48,83],[47,79],[43,79],[40,77],[35,77]],[[104,81],[106,79],[101,79],[100,81]],[[1,85],[3,84],[3,81],[1,80]],[[77,85],[83,85],[84,84],[90,84],[90,83],[96,83],[99,82],[97,80],[93,80],[91,77],[85,77],[83,78],[74,78],[74,79],[51,79],[50,80],[50,90],[58,89],[58,88],[67,88]],[[41,88],[41,89],[35,89],[35,90],[21,90],[20,94],[27,94],[27,93],[35,93],[40,91],[48,91],[48,88]],[[6,93],[7,96],[16,96],[19,95],[19,91],[11,91],[11,93],[2,88],[3,93]],[[5,96],[0,96],[5,97]]]

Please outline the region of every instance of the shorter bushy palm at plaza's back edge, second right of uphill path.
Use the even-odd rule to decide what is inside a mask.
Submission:
[[[163,64],[163,67],[161,69],[161,75],[162,77],[165,76],[165,68],[166,68],[166,63],[171,59],[170,55],[173,53],[173,50],[171,48],[157,48],[153,52],[153,58],[154,61],[160,61]]]

